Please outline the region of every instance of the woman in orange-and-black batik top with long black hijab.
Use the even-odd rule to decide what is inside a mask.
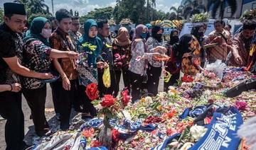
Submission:
[[[181,69],[185,75],[196,75],[202,71],[201,47],[198,40],[191,34],[186,34],[172,47],[171,62],[178,71]]]

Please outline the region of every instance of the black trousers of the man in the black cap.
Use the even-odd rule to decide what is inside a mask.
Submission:
[[[25,142],[23,142],[24,115],[21,109],[21,92],[5,91],[0,93],[0,115],[6,119],[6,149],[22,149]]]

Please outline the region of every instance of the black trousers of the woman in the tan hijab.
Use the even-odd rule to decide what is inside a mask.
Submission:
[[[114,74],[117,79],[117,88],[116,88],[117,93],[119,92],[119,83],[120,83],[120,79],[121,79],[121,74],[122,74],[123,81],[124,81],[124,88],[127,88],[127,90],[130,91],[129,71],[128,70],[122,70],[122,71],[116,70],[116,71],[114,71]]]

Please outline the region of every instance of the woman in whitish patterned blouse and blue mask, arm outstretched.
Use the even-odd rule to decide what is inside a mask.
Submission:
[[[146,60],[154,57],[161,57],[159,53],[147,53],[146,41],[144,39],[147,32],[145,25],[137,25],[135,36],[132,40],[132,59],[129,62],[129,77],[132,88],[132,102],[140,98],[142,81],[146,71]]]

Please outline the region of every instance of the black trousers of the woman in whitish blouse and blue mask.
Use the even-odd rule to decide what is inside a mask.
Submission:
[[[132,71],[129,71],[129,79],[131,83],[131,95],[132,95],[132,102],[135,100],[139,100],[141,98],[141,91],[142,91],[142,81],[143,76],[141,74],[135,74]]]

